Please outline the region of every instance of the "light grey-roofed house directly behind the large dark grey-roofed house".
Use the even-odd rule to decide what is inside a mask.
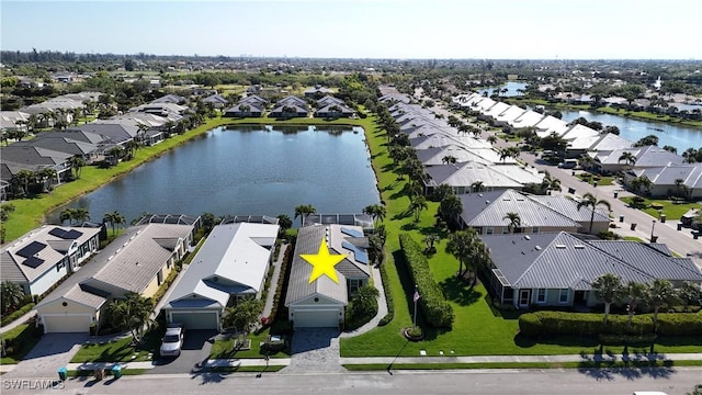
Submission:
[[[578,202],[551,195],[532,195],[514,190],[474,192],[458,196],[463,203],[462,227],[472,227],[479,235],[510,233],[507,213],[517,213],[521,225],[512,233],[574,232],[587,233],[590,228],[591,210],[577,210]],[[609,228],[609,214],[596,207],[592,233]]]

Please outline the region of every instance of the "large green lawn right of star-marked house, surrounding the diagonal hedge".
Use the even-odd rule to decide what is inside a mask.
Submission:
[[[455,258],[445,252],[446,240],[437,246],[437,253],[429,259],[435,281],[444,290],[454,312],[455,321],[451,331],[435,330],[423,325],[421,315],[418,324],[426,332],[420,342],[408,342],[401,336],[404,328],[411,326],[414,284],[404,267],[399,250],[398,235],[409,233],[417,241],[422,242],[427,234],[439,233],[433,226],[433,215],[438,203],[429,202],[429,208],[422,212],[418,224],[411,215],[407,215],[409,198],[405,189],[406,181],[399,180],[393,172],[394,165],[387,156],[386,138],[377,127],[366,129],[366,138],[372,153],[382,201],[386,204],[387,215],[384,224],[387,230],[385,250],[387,260],[388,283],[395,300],[395,318],[386,326],[378,327],[367,334],[341,339],[342,357],[417,357],[420,350],[427,356],[488,356],[488,354],[573,354],[595,353],[599,351],[596,339],[579,337],[562,337],[541,342],[522,339],[517,336],[519,313],[492,311],[483,285],[471,290],[454,279],[458,268]],[[441,235],[445,237],[445,235]],[[679,343],[679,345],[678,345]],[[701,339],[678,339],[660,341],[656,345],[659,352],[700,352]],[[621,348],[610,348],[612,352],[622,352]]]

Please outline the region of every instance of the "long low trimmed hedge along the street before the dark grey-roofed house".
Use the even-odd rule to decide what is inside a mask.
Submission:
[[[658,329],[654,330],[653,314],[632,317],[610,314],[607,325],[600,313],[535,312],[519,317],[519,332],[525,337],[578,335],[597,337],[600,335],[641,336],[657,332],[665,336],[702,334],[702,315],[691,313],[658,314]]]

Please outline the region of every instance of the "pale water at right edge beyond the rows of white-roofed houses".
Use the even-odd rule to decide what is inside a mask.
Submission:
[[[561,113],[563,114],[562,120],[565,122],[571,122],[582,116],[590,122],[601,122],[604,126],[616,126],[619,127],[620,136],[632,142],[637,142],[648,135],[655,135],[658,137],[659,147],[673,146],[678,148],[678,154],[682,154],[688,148],[698,149],[702,147],[702,127],[647,122],[589,111],[561,111]]]

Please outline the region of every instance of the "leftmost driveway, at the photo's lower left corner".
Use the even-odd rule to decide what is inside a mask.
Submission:
[[[58,379],[58,370],[66,366],[89,339],[88,334],[46,334],[24,360],[2,377]]]

